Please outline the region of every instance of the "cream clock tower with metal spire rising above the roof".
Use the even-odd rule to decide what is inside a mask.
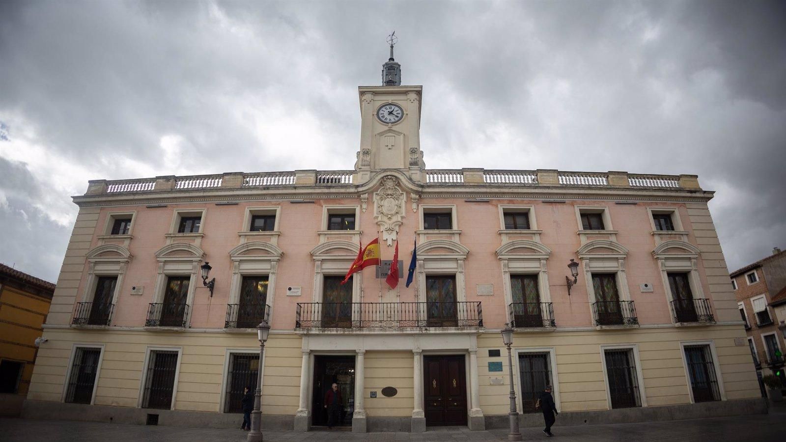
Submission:
[[[401,64],[393,58],[395,32],[390,43],[390,58],[382,67],[381,86],[358,87],[360,98],[360,150],[355,170],[359,182],[373,172],[399,169],[413,181],[422,182],[425,168],[421,151],[421,86],[401,86]]]

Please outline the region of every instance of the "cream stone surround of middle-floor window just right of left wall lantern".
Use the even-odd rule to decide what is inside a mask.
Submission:
[[[244,256],[250,250],[264,250],[268,255]],[[278,262],[284,256],[284,252],[276,245],[264,241],[249,241],[238,245],[230,250],[230,260],[232,260],[232,280],[230,282],[230,297],[227,304],[237,304],[240,300],[241,286],[245,276],[266,276],[267,277],[267,299],[266,304],[270,306],[269,315],[273,314],[273,304],[276,293],[276,276],[278,273]]]

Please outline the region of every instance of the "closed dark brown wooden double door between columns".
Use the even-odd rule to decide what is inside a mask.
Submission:
[[[426,425],[467,425],[463,355],[424,356]]]

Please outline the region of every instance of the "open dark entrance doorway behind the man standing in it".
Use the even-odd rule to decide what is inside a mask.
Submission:
[[[341,392],[341,423],[339,426],[352,426],[354,413],[354,356],[314,356],[314,394],[311,410],[314,411],[311,425],[328,425],[328,411],[325,409],[325,393],[335,382]]]

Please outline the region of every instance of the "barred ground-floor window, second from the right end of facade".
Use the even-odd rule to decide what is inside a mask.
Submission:
[[[633,349],[606,350],[604,358],[612,408],[641,407]]]

